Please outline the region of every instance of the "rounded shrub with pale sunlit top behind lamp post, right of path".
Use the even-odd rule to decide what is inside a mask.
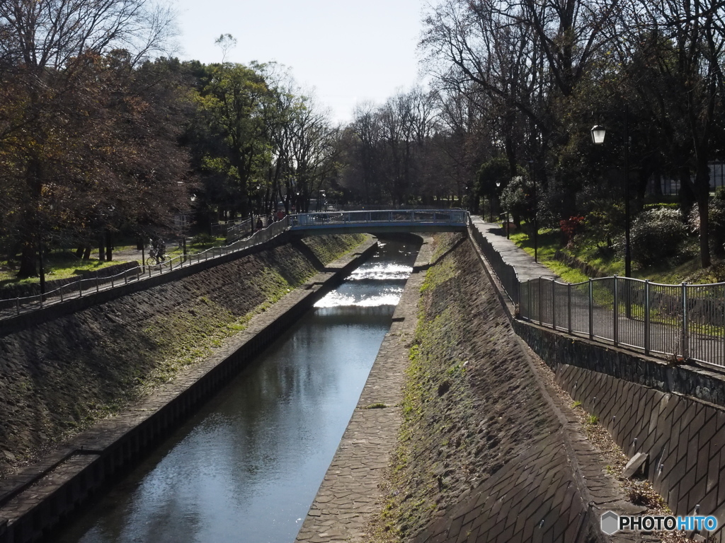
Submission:
[[[632,261],[642,266],[677,256],[679,245],[687,238],[687,226],[677,209],[648,209],[634,219],[630,232]],[[617,250],[624,253],[624,239]]]

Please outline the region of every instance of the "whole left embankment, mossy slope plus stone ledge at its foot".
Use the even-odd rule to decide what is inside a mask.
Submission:
[[[48,439],[43,420],[51,428],[68,421],[77,429],[93,405],[105,402],[96,411],[102,414],[128,400],[126,387],[138,386],[137,396],[153,390],[0,481],[0,542],[37,539],[140,458],[374,250],[368,241],[324,266],[360,240],[333,236],[268,247],[75,313],[46,316],[37,327],[4,331],[0,386],[9,395],[0,411],[19,419],[0,417],[0,447],[7,452]]]

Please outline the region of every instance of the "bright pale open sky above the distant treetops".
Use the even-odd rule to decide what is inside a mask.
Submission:
[[[215,45],[231,34],[226,62],[276,61],[314,90],[337,122],[355,104],[381,104],[419,81],[418,48],[426,0],[176,0],[178,56],[221,62]]]

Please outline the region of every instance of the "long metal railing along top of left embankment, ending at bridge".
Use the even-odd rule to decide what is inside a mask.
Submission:
[[[194,264],[199,264],[199,262],[211,260],[212,258],[219,258],[229,253],[242,251],[254,245],[268,242],[273,237],[285,232],[288,228],[289,219],[285,217],[279,222],[270,224],[264,230],[254,232],[254,235],[248,237],[246,240],[239,240],[224,247],[212,247],[199,253],[174,256],[173,258],[161,261],[159,264],[152,264],[151,266],[142,264],[141,266],[136,266],[136,268],[131,268],[109,277],[79,279],[78,281],[68,283],[44,294],[0,300],[0,319],[8,319],[9,317],[20,315],[20,313],[26,311],[43,308],[51,303],[59,303],[70,300],[70,298],[83,297],[94,292],[99,292],[100,290],[113,288],[118,285],[127,285],[129,282],[141,281],[158,274],[186,268]]]

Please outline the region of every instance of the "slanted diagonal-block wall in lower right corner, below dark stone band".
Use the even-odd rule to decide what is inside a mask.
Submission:
[[[558,382],[629,457],[649,455],[647,477],[677,515],[725,522],[725,410],[683,395],[561,364]],[[725,531],[717,532],[725,541]]]

